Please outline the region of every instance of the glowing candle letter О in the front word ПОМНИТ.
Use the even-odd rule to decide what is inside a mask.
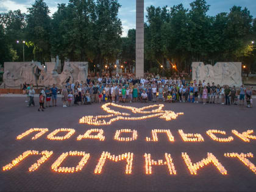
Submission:
[[[83,156],[76,168],[73,167],[60,167],[62,164],[63,160],[65,160],[66,157],[70,156]],[[87,163],[88,158],[90,157],[90,154],[86,154],[84,151],[69,151],[69,152],[64,152],[62,155],[60,155],[59,158],[52,164],[51,168],[53,171],[56,172],[77,172],[81,171],[82,168],[85,166]]]

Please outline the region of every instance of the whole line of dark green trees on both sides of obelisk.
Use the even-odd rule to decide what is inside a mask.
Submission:
[[[25,60],[48,62],[59,55],[63,61],[88,61],[99,68],[121,60],[135,65],[136,30],[122,37],[118,0],[69,0],[58,4],[50,15],[43,0],[27,9],[0,14],[0,64]],[[244,7],[208,15],[205,0],[168,8],[146,7],[144,52],[146,71],[171,63],[176,70],[190,70],[191,62],[214,64],[220,61],[244,62],[255,70],[256,19]],[[17,40],[19,43],[16,43]],[[22,44],[22,41],[26,41]],[[96,65],[97,66],[97,65]]]

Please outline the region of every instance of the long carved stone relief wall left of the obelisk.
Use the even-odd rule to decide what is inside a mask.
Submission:
[[[1,87],[20,87],[21,84],[59,87],[73,82],[86,82],[88,76],[88,62],[65,62],[61,74],[57,73],[55,62],[46,62],[44,67],[39,62],[5,62],[3,84]]]

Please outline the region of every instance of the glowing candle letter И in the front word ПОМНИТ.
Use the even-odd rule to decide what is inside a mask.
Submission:
[[[218,159],[212,153],[208,152],[207,158],[203,158],[200,162],[196,162],[193,164],[191,162],[190,157],[188,156],[188,154],[186,152],[182,152],[182,157],[192,175],[193,174],[196,175],[198,169],[202,168],[205,165],[208,165],[209,163],[213,163],[216,166],[216,168],[219,170],[219,172],[221,172],[222,175],[227,174],[227,170],[224,168],[223,165],[221,165],[221,163],[219,163]]]

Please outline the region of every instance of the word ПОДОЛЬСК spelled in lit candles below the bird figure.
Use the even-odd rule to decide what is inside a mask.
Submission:
[[[21,140],[27,135],[37,132],[34,137],[32,137],[32,140],[37,140],[40,138],[44,133],[48,132],[48,128],[31,128],[27,130],[26,132],[21,133],[16,137],[17,140]],[[66,132],[66,135],[63,137],[56,136],[59,132]],[[48,140],[68,140],[71,138],[71,136],[74,135],[76,132],[75,129],[70,128],[60,128],[55,129],[49,135],[47,135]],[[232,133],[243,140],[244,142],[250,142],[251,140],[256,140],[256,136],[252,135],[254,130],[247,130],[246,132],[238,132],[237,130],[232,130]],[[185,133],[184,130],[179,129],[178,131],[180,137],[182,138],[182,141],[184,142],[203,142],[204,138],[200,133]],[[226,137],[223,135],[226,135],[226,132],[224,130],[216,130],[216,129],[210,129],[206,131],[207,135],[213,140],[218,142],[231,142],[234,140],[232,136]],[[174,142],[174,136],[171,133],[170,129],[152,129],[152,138],[146,137],[146,141],[158,141],[158,134],[165,134],[166,137],[168,137],[168,140],[170,142]],[[126,135],[128,137],[121,137],[121,135]],[[118,129],[115,132],[114,140],[116,141],[135,141],[138,138],[138,131],[132,130],[132,129]],[[99,140],[99,141],[105,141],[104,136],[104,130],[103,129],[89,129],[87,130],[84,135],[79,135],[77,137],[77,141],[81,140],[87,140],[87,139],[93,139],[93,140]]]

